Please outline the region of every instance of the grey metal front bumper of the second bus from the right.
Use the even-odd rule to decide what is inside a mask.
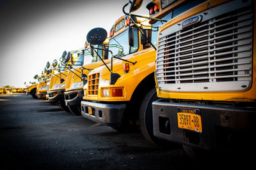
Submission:
[[[92,113],[89,113],[89,109]],[[120,125],[125,111],[125,104],[104,104],[90,101],[81,102],[82,115],[104,125]]]

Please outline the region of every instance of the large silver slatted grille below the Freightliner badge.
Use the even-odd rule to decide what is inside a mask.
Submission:
[[[250,8],[243,8],[160,37],[156,60],[159,87],[178,91],[248,87],[252,76],[252,16]],[[225,85],[230,81],[239,83],[228,89]],[[200,83],[202,86],[198,86]]]

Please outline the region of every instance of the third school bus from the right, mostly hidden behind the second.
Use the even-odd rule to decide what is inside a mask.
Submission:
[[[108,63],[108,52],[97,50],[99,56],[94,53],[91,55],[88,43],[85,43],[85,48],[80,52],[77,52],[79,56],[72,69],[68,71],[65,87],[65,104],[69,110],[75,115],[81,115],[81,101],[84,96],[83,87],[87,83],[87,76],[91,70],[102,66],[102,61]],[[98,45],[98,48],[108,48],[108,42],[104,42],[103,45]]]

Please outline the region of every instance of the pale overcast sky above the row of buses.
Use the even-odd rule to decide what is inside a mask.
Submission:
[[[128,0],[0,0],[0,87],[25,87],[47,61],[84,46],[88,31],[110,31]],[[148,15],[143,0],[135,13]],[[128,11],[129,8],[126,8]]]

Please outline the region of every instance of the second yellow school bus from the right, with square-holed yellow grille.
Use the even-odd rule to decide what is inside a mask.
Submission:
[[[125,15],[115,22],[109,33],[113,62],[88,74],[81,102],[83,117],[120,131],[138,129],[140,107],[148,106],[143,98],[155,88],[156,50],[148,42],[151,27],[137,19]],[[93,41],[91,32],[97,30],[90,31],[87,39]]]

